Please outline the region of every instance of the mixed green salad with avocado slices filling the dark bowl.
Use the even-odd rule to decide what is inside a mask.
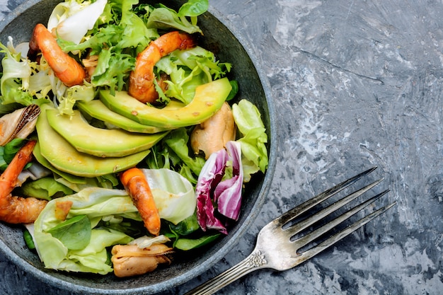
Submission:
[[[108,274],[122,257],[145,257],[159,244],[154,265],[229,234],[244,186],[267,168],[267,135],[258,108],[237,97],[241,85],[229,77],[236,65],[198,45],[205,32],[197,17],[207,8],[207,0],[178,11],[137,0],[68,0],[36,24],[30,42],[10,36],[0,44],[7,137],[0,170],[36,141],[12,193],[45,200],[25,231],[45,267]],[[17,136],[31,105],[37,115]],[[229,120],[231,137],[213,144],[221,136],[210,125],[223,131]],[[159,235],[144,226],[146,205],[134,199],[142,192],[120,180],[130,168],[149,184]],[[119,256],[115,245],[132,248]]]

